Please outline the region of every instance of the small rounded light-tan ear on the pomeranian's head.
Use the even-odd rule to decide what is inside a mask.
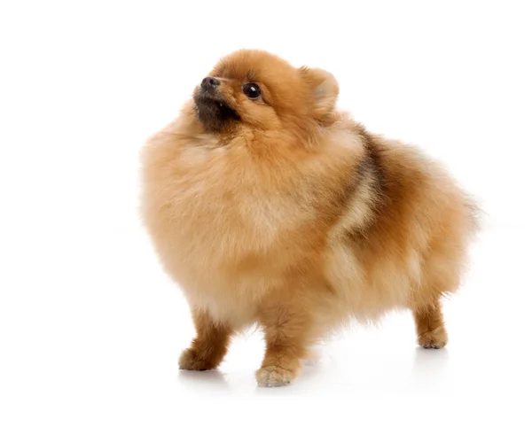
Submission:
[[[321,68],[307,66],[302,66],[300,73],[303,81],[309,85],[310,96],[314,102],[314,118],[325,122],[332,120],[340,90],[334,76]]]

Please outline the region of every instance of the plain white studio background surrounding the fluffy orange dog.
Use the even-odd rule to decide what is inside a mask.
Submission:
[[[527,3],[3,2],[0,424],[529,422]],[[343,330],[283,389],[255,387],[260,332],[218,372],[178,371],[192,322],[140,225],[138,150],[242,47],[328,69],[357,120],[481,200],[447,349],[418,349],[396,313]]]

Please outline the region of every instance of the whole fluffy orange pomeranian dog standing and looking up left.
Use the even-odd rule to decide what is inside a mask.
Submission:
[[[289,384],[328,331],[395,308],[419,345],[446,345],[440,299],[475,206],[434,160],[338,111],[338,93],[322,69],[239,50],[145,144],[145,224],[197,331],[180,369],[215,369],[258,323],[258,384]]]

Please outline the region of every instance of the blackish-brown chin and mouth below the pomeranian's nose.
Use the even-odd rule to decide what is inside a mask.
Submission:
[[[223,99],[199,93],[194,96],[196,114],[207,132],[220,132],[240,120],[239,114]]]

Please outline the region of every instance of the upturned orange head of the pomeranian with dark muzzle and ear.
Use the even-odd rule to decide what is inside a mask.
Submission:
[[[194,91],[197,117],[207,132],[248,127],[282,129],[332,120],[338,83],[317,68],[291,66],[262,50],[238,50],[215,66]]]

